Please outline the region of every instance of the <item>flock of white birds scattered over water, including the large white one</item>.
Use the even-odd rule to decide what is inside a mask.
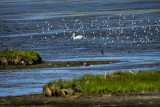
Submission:
[[[80,40],[87,39],[86,34],[88,34],[92,35],[93,40],[96,40],[96,38],[102,38],[106,41],[105,45],[107,42],[113,43],[115,41],[121,41],[121,43],[124,43],[125,40],[129,40],[131,38],[132,42],[130,44],[133,44],[137,41],[141,42],[142,44],[151,43],[154,41],[154,39],[150,38],[150,36],[153,36],[155,33],[160,33],[160,20],[154,20],[153,24],[153,19],[137,20],[135,19],[135,15],[132,15],[132,17],[129,19],[121,14],[119,15],[119,19],[113,21],[111,18],[112,17],[106,17],[106,20],[99,21],[98,19],[93,19],[90,23],[88,21],[85,24],[83,24],[83,22],[78,19],[75,19],[74,23],[67,23],[67,21],[62,18],[62,25],[50,25],[50,23],[45,22],[48,28],[42,27],[41,29],[44,35],[52,32],[51,34],[54,34],[52,36],[53,38],[55,38],[58,33],[63,33],[64,38],[68,38],[68,34],[70,34],[69,39]],[[55,26],[56,29],[54,29]],[[40,26],[37,25],[37,27],[39,28]],[[57,30],[57,28],[59,29]],[[126,29],[132,31],[132,35],[126,34]],[[140,30],[142,31],[139,32]],[[46,36],[45,39],[47,39]],[[94,42],[95,41],[93,41],[93,43]]]

